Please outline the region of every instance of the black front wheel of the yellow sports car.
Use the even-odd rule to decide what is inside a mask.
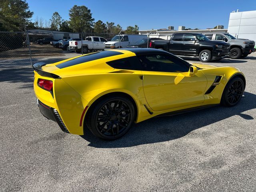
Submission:
[[[238,104],[244,94],[244,81],[240,77],[234,77],[226,84],[220,104],[232,107]]]

